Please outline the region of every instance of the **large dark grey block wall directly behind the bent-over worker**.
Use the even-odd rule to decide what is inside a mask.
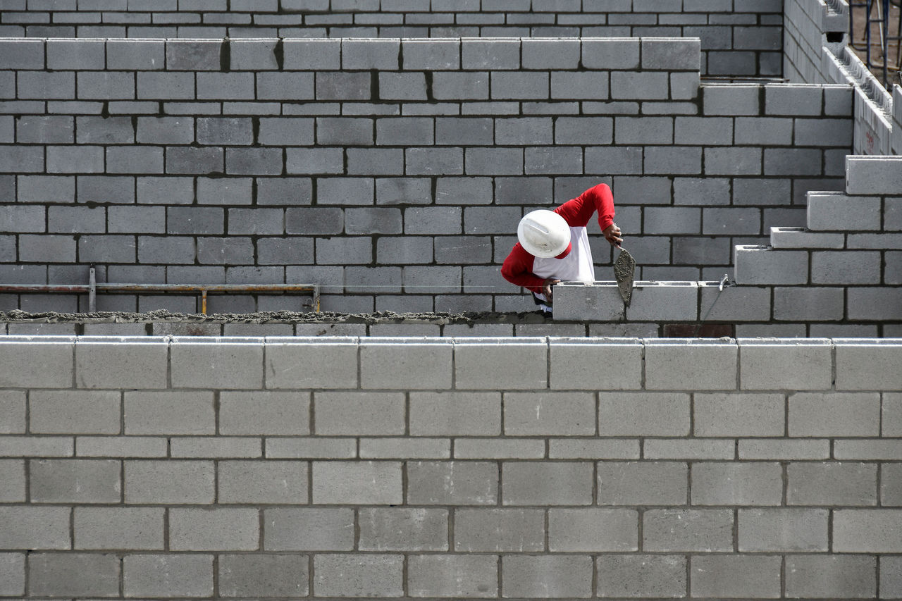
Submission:
[[[13,283],[84,283],[97,264],[101,282],[319,283],[326,310],[524,310],[498,273],[517,221],[599,181],[641,278],[719,279],[732,245],[801,224],[808,190],[842,185],[851,144],[850,88],[700,85],[697,39],[0,48]],[[197,305],[98,301],[157,308]]]

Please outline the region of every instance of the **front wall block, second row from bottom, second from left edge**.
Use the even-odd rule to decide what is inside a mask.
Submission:
[[[162,550],[162,507],[78,507],[75,549]]]

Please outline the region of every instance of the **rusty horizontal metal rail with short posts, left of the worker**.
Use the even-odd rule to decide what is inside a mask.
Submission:
[[[0,292],[69,292],[87,293],[88,310],[92,313],[97,310],[97,292],[124,293],[124,292],[168,292],[168,293],[200,293],[201,313],[207,315],[207,293],[277,293],[277,292],[311,292],[313,295],[312,309],[319,312],[319,285],[318,284],[138,284],[138,283],[97,283],[95,282],[94,268],[91,268],[91,282],[87,284],[4,284],[0,283]]]

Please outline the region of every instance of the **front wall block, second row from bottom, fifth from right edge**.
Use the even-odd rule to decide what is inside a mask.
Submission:
[[[545,519],[540,509],[458,509],[456,551],[545,550]]]

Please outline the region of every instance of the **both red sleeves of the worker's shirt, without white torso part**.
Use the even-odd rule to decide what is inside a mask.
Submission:
[[[598,184],[585,190],[572,200],[554,209],[564,217],[570,227],[586,227],[595,211],[598,211],[598,225],[604,230],[614,222],[614,198],[607,184]],[[518,242],[513,245],[511,254],[504,259],[502,276],[508,282],[522,286],[529,291],[541,292],[545,278],[532,273],[532,265],[536,257],[529,254]]]

